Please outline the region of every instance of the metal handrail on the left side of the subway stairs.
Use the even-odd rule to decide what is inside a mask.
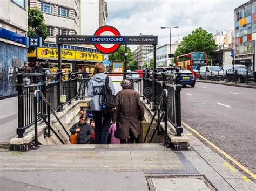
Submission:
[[[66,135],[68,135],[69,137],[69,133],[68,131],[66,131],[66,129],[64,128],[64,125],[62,124],[62,122],[60,122],[59,118],[57,117],[57,115],[55,114],[55,111],[52,109],[51,105],[49,104],[49,102],[46,100],[46,98],[44,97],[43,93],[41,92],[41,90],[35,90],[34,91],[34,116],[35,116],[35,148],[38,147],[38,137],[37,137],[37,93],[42,97],[43,101],[46,103],[46,105],[48,105],[48,116],[50,116],[50,110],[52,111],[53,116],[55,116],[55,118],[57,119],[57,121],[59,122],[59,124],[62,126],[63,130],[65,131]],[[42,117],[42,116],[41,116]],[[44,120],[45,122],[45,120]],[[48,125],[48,135],[50,135],[50,121],[48,123],[46,123],[46,125]],[[52,128],[51,128],[52,129]],[[59,139],[60,137],[57,136]],[[63,143],[63,141],[60,139],[60,141]]]

